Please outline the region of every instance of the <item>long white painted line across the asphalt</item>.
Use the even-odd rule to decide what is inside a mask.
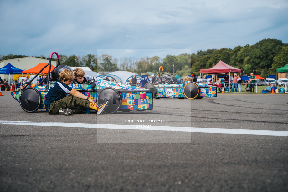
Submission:
[[[153,130],[153,131],[181,131],[197,133],[221,133],[221,134],[245,134],[245,135],[269,135],[288,137],[288,131],[267,131],[251,129],[222,129],[222,128],[201,128],[201,127],[168,127],[151,126],[151,128],[138,128],[137,125],[112,125],[112,124],[90,124],[90,123],[64,123],[64,122],[31,122],[31,121],[0,121],[2,125],[28,125],[48,127],[82,127],[98,129],[131,129],[131,130]]]

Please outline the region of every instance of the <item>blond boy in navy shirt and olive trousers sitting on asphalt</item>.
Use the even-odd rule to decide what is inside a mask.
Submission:
[[[79,114],[85,108],[95,109],[97,114],[103,113],[108,105],[108,100],[98,105],[89,97],[79,91],[71,89],[68,85],[74,80],[74,75],[69,69],[64,69],[59,74],[59,81],[55,82],[45,96],[46,111],[52,114]],[[67,96],[70,94],[69,96]]]

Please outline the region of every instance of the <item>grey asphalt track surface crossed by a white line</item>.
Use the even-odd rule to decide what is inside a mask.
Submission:
[[[288,191],[288,137],[260,135],[287,134],[287,94],[154,99],[150,111],[62,116],[26,113],[2,93],[0,191]]]

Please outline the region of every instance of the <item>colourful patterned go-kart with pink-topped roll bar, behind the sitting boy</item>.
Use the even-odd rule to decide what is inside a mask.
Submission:
[[[56,52],[50,54],[49,63],[39,71],[34,78],[36,78],[47,66],[48,75],[47,85],[41,85],[45,78],[35,87],[27,87],[34,78],[20,91],[12,91],[11,95],[16,99],[22,109],[26,112],[35,112],[38,109],[45,109],[44,101],[46,96],[46,90],[52,84],[49,81],[57,81],[55,78],[54,70],[51,69],[52,55],[56,54],[58,64],[55,68],[60,66],[59,55]],[[84,95],[93,99],[97,104],[102,104],[106,100],[109,100],[109,106],[105,109],[104,113],[113,114],[119,111],[129,112],[132,110],[151,110],[153,109],[153,96],[151,90],[125,85],[121,83],[115,83],[105,81],[102,79],[94,81],[88,81],[85,84],[70,84],[70,88],[83,93]]]

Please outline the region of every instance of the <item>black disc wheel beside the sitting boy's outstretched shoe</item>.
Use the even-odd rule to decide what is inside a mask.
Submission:
[[[103,113],[113,114],[116,113],[122,104],[121,96],[115,88],[107,87],[100,91],[97,95],[97,104],[103,104],[106,100],[109,101],[109,105],[106,107]]]

